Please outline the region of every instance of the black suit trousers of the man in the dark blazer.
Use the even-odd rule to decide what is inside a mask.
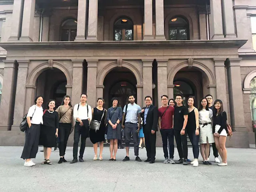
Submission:
[[[144,129],[144,137],[148,160],[154,161],[156,159],[156,133],[151,134],[151,130]]]

